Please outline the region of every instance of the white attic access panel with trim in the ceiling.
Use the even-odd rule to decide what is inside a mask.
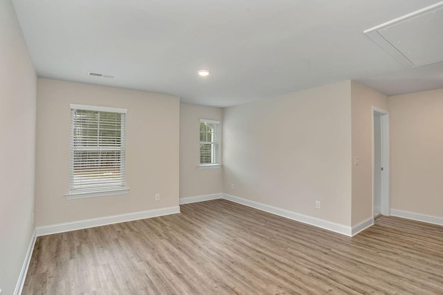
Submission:
[[[443,1],[364,33],[408,68],[443,61]]]

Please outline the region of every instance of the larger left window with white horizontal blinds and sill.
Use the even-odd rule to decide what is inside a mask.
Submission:
[[[71,187],[67,197],[127,192],[126,111],[71,104]]]

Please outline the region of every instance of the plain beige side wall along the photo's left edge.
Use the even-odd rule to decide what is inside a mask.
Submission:
[[[34,231],[37,77],[11,1],[0,1],[0,289],[12,294]]]

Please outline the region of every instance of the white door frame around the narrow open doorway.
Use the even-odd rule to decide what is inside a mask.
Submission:
[[[381,214],[390,216],[390,160],[389,160],[389,111],[372,106],[372,218],[374,218],[374,115],[381,116]]]

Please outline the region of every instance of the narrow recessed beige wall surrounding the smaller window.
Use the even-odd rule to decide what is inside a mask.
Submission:
[[[221,126],[222,113],[223,109],[212,106],[180,105],[180,198],[221,193],[222,168],[198,169],[198,166],[199,120],[219,120]]]

